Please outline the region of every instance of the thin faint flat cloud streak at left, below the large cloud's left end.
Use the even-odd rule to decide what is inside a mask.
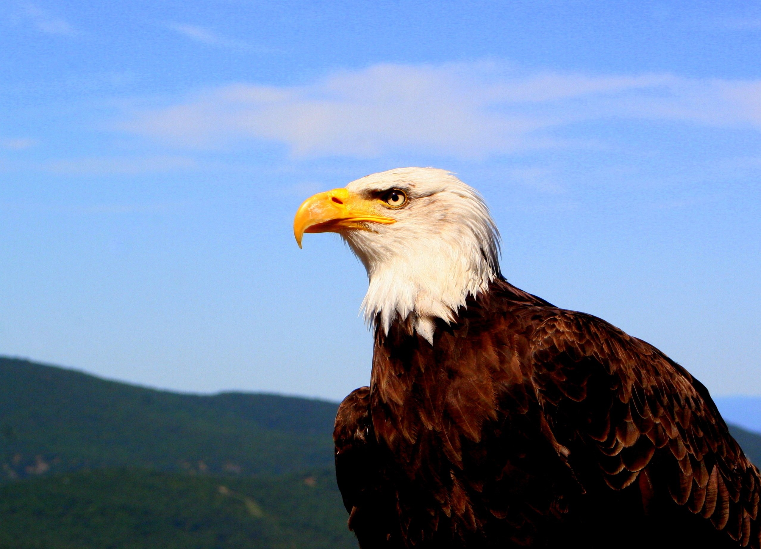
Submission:
[[[46,171],[61,175],[102,176],[169,172],[194,167],[196,161],[185,157],[90,157],[56,160],[46,166]]]

